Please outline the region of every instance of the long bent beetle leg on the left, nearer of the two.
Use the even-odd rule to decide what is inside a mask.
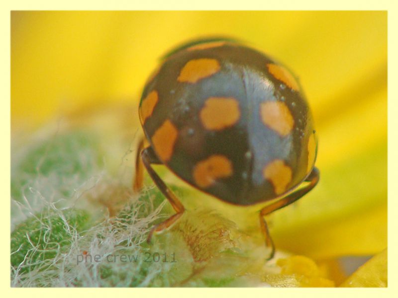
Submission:
[[[177,212],[175,215],[168,218],[166,221],[156,224],[149,232],[147,242],[151,241],[152,234],[154,232],[158,232],[168,228],[173,223],[175,223],[184,213],[185,208],[180,200],[176,197],[176,195],[167,187],[167,185],[163,182],[163,180],[159,177],[159,175],[152,168],[151,163],[161,163],[159,159],[156,157],[151,147],[145,148],[141,152],[142,162],[145,168],[148,171],[148,174],[151,176],[153,182],[155,182],[156,186],[163,193],[163,195],[169,200],[170,204],[173,206],[174,210]]]

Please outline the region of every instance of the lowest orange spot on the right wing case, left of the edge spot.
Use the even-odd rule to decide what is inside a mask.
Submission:
[[[277,195],[286,191],[288,184],[292,181],[292,169],[281,159],[274,159],[263,169],[263,176],[274,186]]]

